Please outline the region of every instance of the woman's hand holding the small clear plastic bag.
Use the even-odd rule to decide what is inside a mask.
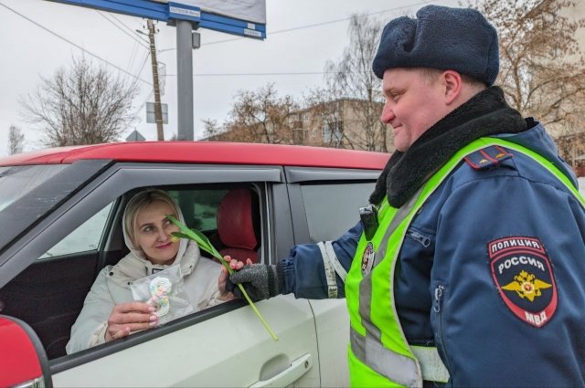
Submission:
[[[143,302],[121,303],[114,306],[108,318],[105,340],[118,340],[130,335],[131,331],[151,329],[157,324],[158,317],[154,314],[154,307]]]

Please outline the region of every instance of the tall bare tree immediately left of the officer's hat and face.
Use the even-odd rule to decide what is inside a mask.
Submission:
[[[348,102],[338,104],[346,111],[336,113],[344,117],[346,146],[388,152],[391,139],[388,139],[386,126],[379,120],[383,102],[381,82],[372,72],[382,27],[383,23],[370,16],[352,16],[347,29],[349,44],[338,61],[327,62],[325,90],[314,96],[337,96]],[[315,101],[312,103],[315,105]]]

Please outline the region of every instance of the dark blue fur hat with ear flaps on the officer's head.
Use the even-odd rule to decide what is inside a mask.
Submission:
[[[499,70],[497,32],[471,8],[427,5],[417,18],[401,16],[384,27],[372,68],[455,70],[491,86]]]

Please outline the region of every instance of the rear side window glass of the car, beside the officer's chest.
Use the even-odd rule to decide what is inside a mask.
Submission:
[[[313,241],[334,240],[359,220],[359,207],[367,205],[374,182],[355,184],[303,184],[304,209]]]

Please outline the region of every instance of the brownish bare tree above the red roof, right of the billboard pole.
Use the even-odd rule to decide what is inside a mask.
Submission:
[[[239,91],[226,123],[218,126],[216,121],[204,121],[206,135],[229,142],[293,144],[291,115],[297,109],[293,98],[279,97],[273,84]]]

